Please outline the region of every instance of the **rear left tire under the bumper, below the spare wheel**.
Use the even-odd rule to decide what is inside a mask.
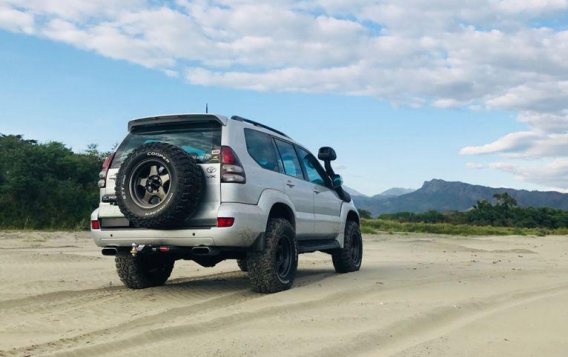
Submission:
[[[157,255],[117,255],[116,271],[122,283],[130,289],[145,289],[164,285],[170,277],[175,261]]]

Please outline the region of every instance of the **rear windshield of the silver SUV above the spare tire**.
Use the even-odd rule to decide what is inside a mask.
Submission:
[[[221,151],[221,125],[191,123],[134,128],[116,150],[111,168],[119,168],[128,154],[148,143],[178,146],[200,164],[218,163]]]

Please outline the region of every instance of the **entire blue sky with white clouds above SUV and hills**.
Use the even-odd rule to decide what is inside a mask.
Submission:
[[[108,150],[130,119],[209,103],[335,147],[366,194],[432,178],[568,189],[562,1],[497,2],[502,17],[444,1],[404,16],[389,1],[105,1],[0,0],[1,133]],[[177,26],[148,26],[162,19]]]

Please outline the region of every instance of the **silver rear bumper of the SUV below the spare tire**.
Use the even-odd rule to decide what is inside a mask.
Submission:
[[[159,230],[144,228],[92,229],[91,236],[99,247],[130,247],[132,243],[180,247],[217,246],[248,248],[264,233],[268,212],[259,206],[240,203],[221,204],[219,217],[234,217],[235,223],[228,228],[187,228]],[[99,219],[99,210],[91,220]]]

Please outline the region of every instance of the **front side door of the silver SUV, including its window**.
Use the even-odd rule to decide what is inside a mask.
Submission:
[[[314,197],[314,234],[320,238],[335,237],[340,227],[342,201],[330,188],[329,178],[315,156],[300,147],[297,149]]]

